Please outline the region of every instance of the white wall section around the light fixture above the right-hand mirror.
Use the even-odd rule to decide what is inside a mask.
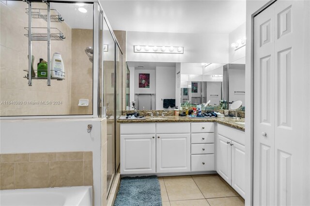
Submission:
[[[239,63],[239,64],[245,64],[246,63],[246,46],[243,46],[237,50],[234,50],[234,48],[231,46],[231,44],[236,43],[238,39],[243,39],[246,36],[246,22],[241,24],[239,27],[234,29],[229,34],[229,63]],[[247,43],[247,42],[246,42]]]

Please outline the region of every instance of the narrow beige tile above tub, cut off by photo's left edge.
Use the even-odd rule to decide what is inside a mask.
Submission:
[[[14,189],[15,163],[1,163],[0,165],[0,189]]]

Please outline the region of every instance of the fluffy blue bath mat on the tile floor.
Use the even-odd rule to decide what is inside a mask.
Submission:
[[[161,206],[157,176],[122,178],[114,206]]]

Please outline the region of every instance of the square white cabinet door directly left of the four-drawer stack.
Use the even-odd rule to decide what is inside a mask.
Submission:
[[[190,172],[190,134],[157,134],[156,172]]]

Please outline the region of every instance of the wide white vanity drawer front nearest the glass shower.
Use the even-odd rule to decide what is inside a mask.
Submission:
[[[154,134],[155,123],[123,123],[121,134]]]

